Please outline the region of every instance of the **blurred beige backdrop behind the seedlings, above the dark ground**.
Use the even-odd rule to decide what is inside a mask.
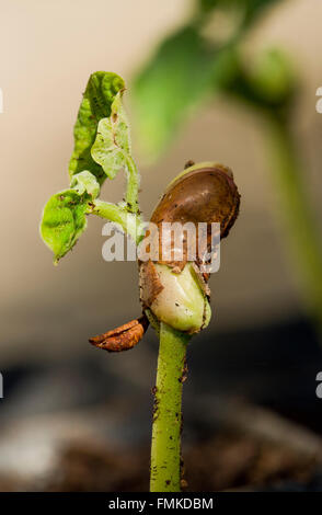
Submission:
[[[89,335],[139,313],[136,264],[103,261],[102,220],[89,219],[87,232],[57,267],[41,241],[38,224],[47,198],[68,186],[72,126],[89,75],[102,69],[123,76],[130,108],[134,72],[189,9],[187,0],[2,0],[1,367],[94,352]],[[315,112],[315,91],[322,85],[321,20],[320,0],[284,1],[250,39],[251,46],[281,45],[299,70],[295,130],[320,217],[322,115]],[[131,126],[135,139],[134,116]],[[284,254],[261,134],[255,116],[218,98],[187,124],[158,163],[140,165],[147,217],[187,159],[218,160],[234,171],[241,215],[221,247],[221,268],[211,278],[211,327],[221,331],[275,323],[303,311]],[[140,163],[136,144],[134,151]],[[105,199],[122,195],[122,178],[104,185]]]

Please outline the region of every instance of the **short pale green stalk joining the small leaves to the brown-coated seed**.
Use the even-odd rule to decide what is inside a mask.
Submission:
[[[142,237],[142,221],[138,215],[129,213],[117,204],[99,199],[90,204],[89,213],[118,224],[124,232],[129,234],[136,243],[140,241]]]

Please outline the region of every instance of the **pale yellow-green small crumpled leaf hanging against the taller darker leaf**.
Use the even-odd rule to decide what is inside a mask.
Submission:
[[[92,158],[110,179],[114,179],[122,168],[127,169],[129,157],[129,126],[119,92],[112,104],[111,116],[99,123],[96,139],[92,146]]]

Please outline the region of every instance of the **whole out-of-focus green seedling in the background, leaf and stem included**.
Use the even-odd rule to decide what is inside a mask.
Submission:
[[[200,105],[221,93],[263,121],[286,241],[309,313],[322,330],[322,248],[290,130],[298,81],[279,49],[245,58],[251,28],[283,0],[198,0],[185,26],[166,37],[135,78],[139,141],[153,160]]]

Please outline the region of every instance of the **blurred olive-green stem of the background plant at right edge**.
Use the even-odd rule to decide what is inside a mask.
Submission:
[[[322,247],[306,192],[304,170],[297,158],[288,124],[278,116],[268,116],[268,128],[272,169],[292,259],[303,283],[309,310],[322,330]]]

